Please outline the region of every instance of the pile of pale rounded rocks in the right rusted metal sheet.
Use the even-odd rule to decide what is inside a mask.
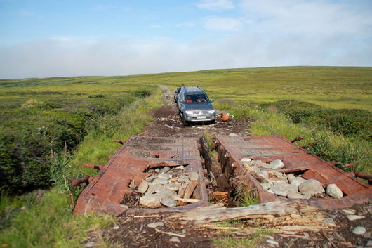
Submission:
[[[284,163],[279,159],[270,162],[270,164],[248,158],[241,159],[241,162],[245,164],[246,168],[248,167],[249,170],[258,175],[263,189],[274,195],[289,199],[309,199],[313,195],[326,192],[327,195],[333,198],[343,197],[343,192],[336,184],[328,185],[325,191],[321,183],[315,179],[306,180],[294,174],[273,171],[272,169],[284,168]]]

